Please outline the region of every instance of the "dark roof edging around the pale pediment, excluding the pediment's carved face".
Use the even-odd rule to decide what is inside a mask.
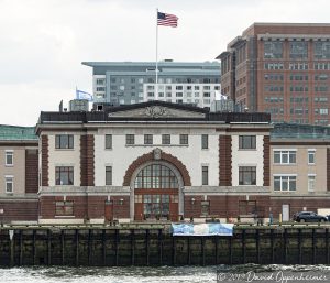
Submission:
[[[143,109],[152,106],[162,106],[170,109],[186,110],[196,112],[196,117],[116,117],[111,113],[118,111],[129,111],[134,109]],[[41,112],[40,123],[87,123],[87,122],[105,122],[105,121],[221,121],[243,122],[243,123],[270,123],[271,115],[268,113],[249,113],[249,112],[210,112],[208,109],[202,109],[195,106],[172,104],[165,101],[147,101],[142,104],[125,105],[118,107],[108,107],[105,111],[90,112]]]

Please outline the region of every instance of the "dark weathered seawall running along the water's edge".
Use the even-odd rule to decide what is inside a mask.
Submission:
[[[0,266],[329,264],[330,226],[235,226],[173,237],[168,226],[2,227]]]

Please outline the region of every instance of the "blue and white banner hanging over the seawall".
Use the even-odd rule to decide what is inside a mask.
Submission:
[[[172,224],[173,236],[232,236],[233,224]]]

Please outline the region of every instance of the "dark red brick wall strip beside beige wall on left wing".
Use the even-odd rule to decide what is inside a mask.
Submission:
[[[37,150],[25,150],[25,193],[36,194],[38,191]]]

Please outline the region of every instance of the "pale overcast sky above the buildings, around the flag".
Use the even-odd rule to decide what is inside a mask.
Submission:
[[[329,0],[0,0],[0,124],[33,126],[91,91],[82,61],[212,61],[253,22],[330,22]]]

